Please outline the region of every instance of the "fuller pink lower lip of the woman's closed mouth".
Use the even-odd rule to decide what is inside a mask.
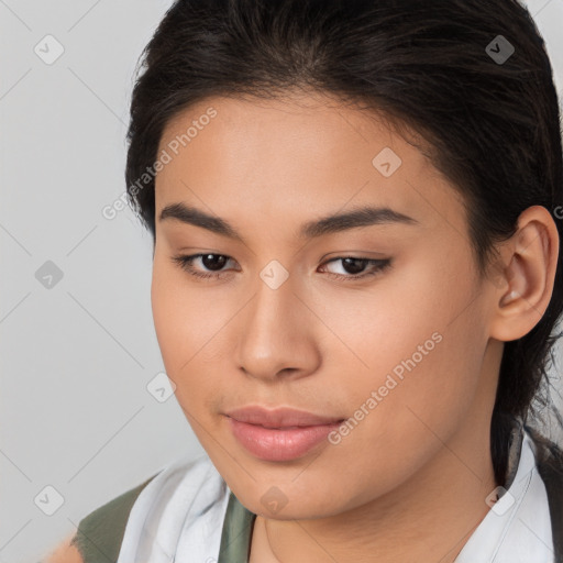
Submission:
[[[228,418],[239,442],[256,457],[271,462],[285,462],[305,455],[342,424],[334,422],[280,430]]]

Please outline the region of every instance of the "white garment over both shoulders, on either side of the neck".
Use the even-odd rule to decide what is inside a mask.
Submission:
[[[554,563],[548,495],[534,448],[523,431],[508,492],[455,563]],[[230,493],[207,455],[163,467],[131,509],[117,563],[216,563]]]

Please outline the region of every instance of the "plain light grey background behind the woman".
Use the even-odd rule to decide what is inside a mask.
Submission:
[[[174,396],[147,390],[164,369],[151,238],[129,209],[101,214],[124,190],[134,68],[169,4],[0,0],[0,563],[38,561],[89,511],[205,453]],[[563,0],[528,5],[562,91]],[[56,54],[47,34],[65,49],[52,64],[34,52]]]

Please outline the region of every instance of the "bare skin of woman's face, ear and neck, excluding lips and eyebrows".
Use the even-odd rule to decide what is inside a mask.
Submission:
[[[503,342],[528,333],[552,294],[550,213],[526,210],[499,246],[494,283],[481,279],[461,197],[375,114],[312,92],[216,97],[169,121],[159,150],[209,107],[217,117],[156,177],[152,306],[179,405],[258,515],[250,561],[454,561],[497,486],[489,428]],[[372,164],[384,147],[402,161],[390,177]],[[177,202],[224,219],[244,242],[159,221]],[[307,221],[366,203],[417,223],[296,235]],[[194,277],[172,260],[197,253],[229,257],[223,277]],[[373,266],[329,263],[346,256],[391,265],[354,282]],[[289,274],[277,289],[260,276],[274,260]],[[354,417],[433,333],[440,343],[339,444],[268,462],[230,430],[223,413],[245,405]],[[273,486],[287,499],[274,514],[261,503]]]

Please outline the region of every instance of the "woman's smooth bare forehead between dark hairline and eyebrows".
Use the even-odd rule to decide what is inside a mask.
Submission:
[[[209,115],[213,115],[210,118]],[[322,95],[213,97],[166,125],[156,208],[208,205],[244,221],[310,218],[346,205],[393,207],[421,222],[457,221],[459,196],[429,159],[375,112]]]

